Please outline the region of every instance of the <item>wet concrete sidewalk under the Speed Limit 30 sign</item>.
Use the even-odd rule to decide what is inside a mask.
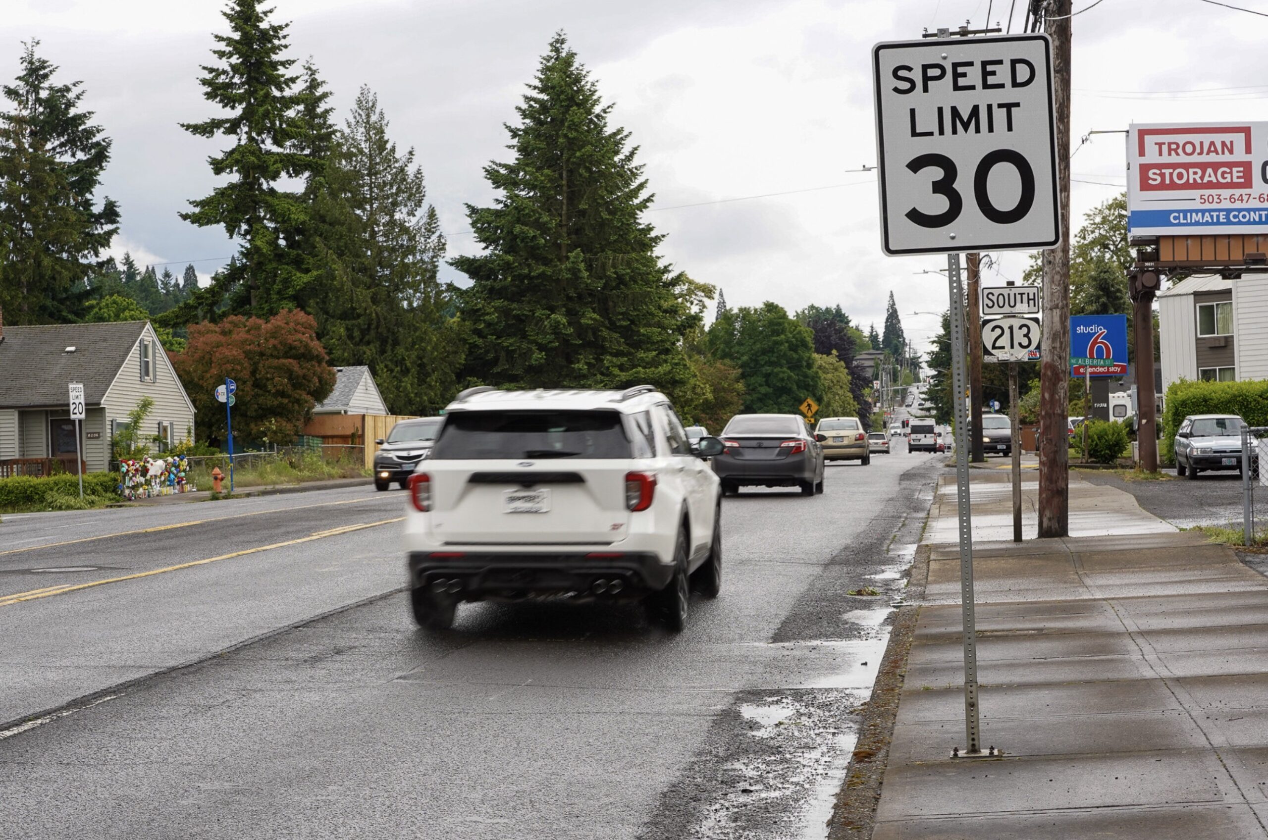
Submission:
[[[973,478],[989,538],[1007,483]],[[874,840],[1268,837],[1268,580],[1074,476],[1085,535],[976,546],[983,744],[1004,755],[948,758],[965,744],[950,490],[917,565]]]

